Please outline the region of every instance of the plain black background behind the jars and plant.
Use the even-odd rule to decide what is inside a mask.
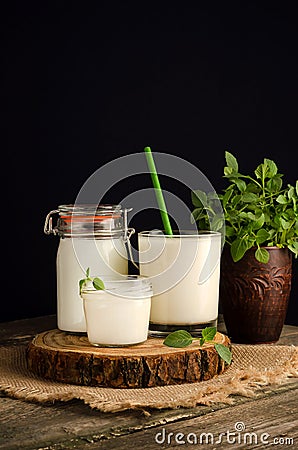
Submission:
[[[55,312],[58,238],[43,234],[45,216],[114,158],[150,145],[219,190],[229,150],[242,172],[267,157],[295,182],[296,2],[7,3],[1,320]],[[142,186],[146,175],[109,200]],[[140,229],[160,226],[154,214],[142,220]],[[296,325],[297,267],[287,316]]]

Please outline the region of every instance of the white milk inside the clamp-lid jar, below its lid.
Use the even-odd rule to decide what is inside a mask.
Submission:
[[[121,238],[60,239],[57,253],[57,320],[60,330],[87,331],[79,280],[85,278],[88,267],[91,276],[127,274],[125,255]]]

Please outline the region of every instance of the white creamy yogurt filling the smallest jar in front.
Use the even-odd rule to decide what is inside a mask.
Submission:
[[[82,296],[91,344],[117,346],[146,341],[151,297],[125,298],[106,291]]]

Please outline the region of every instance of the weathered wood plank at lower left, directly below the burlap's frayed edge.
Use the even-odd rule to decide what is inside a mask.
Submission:
[[[297,380],[293,379],[287,386],[276,386],[274,389],[267,387],[259,393],[257,401],[264,397],[276,397],[277,395],[282,398],[282,395],[287,395],[288,392],[295,398],[298,392]],[[49,406],[0,398],[0,449],[84,449],[88,442],[93,441],[98,445],[101,441],[109,442],[110,439],[113,439],[114,448],[116,448],[115,438],[118,439],[140,430],[150,430],[151,428],[159,430],[167,424],[184,423],[187,420],[214,413],[214,411],[226,409],[233,411],[238,407],[240,420],[241,411],[246,411],[247,405],[252,400],[244,397],[236,397],[235,400],[236,406],[232,407],[217,404],[191,409],[155,410],[150,411],[151,414],[148,415],[140,410],[105,414],[91,410],[79,401],[56,403]],[[264,410],[264,417],[266,415],[267,411]],[[284,417],[284,420],[288,420],[287,417]],[[98,447],[95,445],[94,448]],[[141,448],[141,446],[135,448]]]

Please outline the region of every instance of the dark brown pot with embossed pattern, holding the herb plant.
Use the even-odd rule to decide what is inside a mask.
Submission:
[[[234,263],[230,248],[221,258],[220,304],[232,342],[276,342],[284,325],[292,279],[292,254],[288,249],[266,247],[267,264],[250,249]]]

